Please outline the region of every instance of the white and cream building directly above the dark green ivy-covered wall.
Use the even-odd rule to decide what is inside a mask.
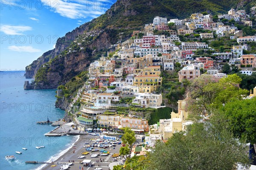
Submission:
[[[162,95],[155,95],[152,93],[134,93],[135,98],[132,100],[132,105],[143,108],[154,108],[158,109],[163,106]]]

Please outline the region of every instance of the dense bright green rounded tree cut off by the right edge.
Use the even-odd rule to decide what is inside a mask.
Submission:
[[[256,144],[256,98],[227,103],[222,113],[227,116],[234,135],[246,142]]]

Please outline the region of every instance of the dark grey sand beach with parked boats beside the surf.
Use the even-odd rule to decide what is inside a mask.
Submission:
[[[106,148],[105,150],[109,151],[110,154],[108,156],[98,156],[96,158],[90,158],[91,152],[85,155],[85,158],[78,158],[78,156],[82,156],[81,153],[85,152],[84,143],[90,143],[92,139],[98,139],[98,136],[93,135],[80,135],[80,138],[73,147],[71,147],[64,155],[60,156],[56,161],[52,164],[47,164],[47,166],[43,167],[43,170],[59,170],[63,164],[74,161],[74,164],[70,166],[68,170],[94,170],[95,168],[102,168],[102,170],[113,169],[113,165],[123,163],[123,159],[117,158],[114,161],[114,158],[111,157],[113,153],[119,153],[119,149],[121,147],[120,144],[117,144],[115,149],[114,147]],[[102,149],[99,147],[94,147],[94,149]],[[94,152],[99,153],[99,152]],[[83,164],[79,164],[80,161],[84,159],[91,160],[91,163],[94,167],[85,167]],[[52,165],[56,165],[55,167],[51,167]]]

